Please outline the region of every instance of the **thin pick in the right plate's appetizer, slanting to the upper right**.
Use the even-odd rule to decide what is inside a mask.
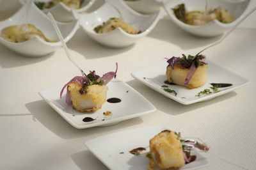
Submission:
[[[217,42],[212,43],[211,45],[209,45],[208,47],[205,47],[204,49],[200,50],[200,52],[198,52],[196,56],[198,56],[200,53],[202,53],[204,50],[209,49],[210,47],[213,47],[215,45],[218,45],[219,43],[221,43],[232,31],[234,31],[234,29],[236,29],[236,27],[243,22],[244,19],[246,19],[249,15],[251,15],[254,11],[256,10],[256,6],[254,8],[252,8],[252,10],[250,10],[248,13],[246,13],[246,15],[244,15],[243,17],[241,17],[241,20],[239,20],[239,22],[237,22],[237,24],[232,27],[225,35],[223,35],[220,40],[218,40]],[[195,58],[194,57],[194,58]]]

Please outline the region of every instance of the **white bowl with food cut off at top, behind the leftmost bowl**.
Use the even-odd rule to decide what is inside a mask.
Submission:
[[[25,4],[28,0],[19,0]],[[54,19],[60,22],[76,20],[73,13],[85,12],[96,0],[35,0],[36,6],[44,13],[51,12]]]

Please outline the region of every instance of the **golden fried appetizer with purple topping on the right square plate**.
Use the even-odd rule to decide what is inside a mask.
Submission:
[[[205,56],[199,55],[195,58],[182,54],[182,58],[168,59],[166,78],[169,83],[186,86],[189,89],[198,88],[207,80],[208,65],[204,63]]]

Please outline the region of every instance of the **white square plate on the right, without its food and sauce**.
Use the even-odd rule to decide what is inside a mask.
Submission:
[[[206,62],[209,65],[207,72],[207,82],[200,88],[188,89],[183,86],[165,84],[164,81],[166,81],[166,66],[168,66],[167,62],[143,68],[138,72],[133,72],[132,77],[147,85],[148,87],[158,91],[164,96],[172,98],[173,100],[184,105],[209,100],[250,83],[250,81],[244,77],[241,77],[241,75],[237,75],[237,73],[231,72],[230,70],[227,70],[227,68],[217,65],[216,63],[209,61],[209,59],[207,59]],[[200,97],[196,97],[200,91],[203,91],[204,89],[210,89],[210,87],[212,87],[210,83],[230,83],[233,85],[227,88],[218,88],[220,90],[218,93],[211,93],[209,95],[201,95]],[[173,93],[164,91],[164,88],[162,87],[163,85],[175,90],[177,96],[175,96]]]

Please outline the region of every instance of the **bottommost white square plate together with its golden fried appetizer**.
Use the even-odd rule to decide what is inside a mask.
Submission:
[[[162,144],[159,145],[160,143]],[[134,128],[85,141],[87,148],[109,169],[147,169],[153,158],[154,163],[151,165],[155,164],[156,167],[151,167],[152,169],[168,169],[173,166],[180,169],[199,169],[209,165],[207,158],[195,148],[189,151],[191,157],[186,156],[184,160],[184,143],[186,141],[181,141],[180,133],[162,126]],[[162,152],[161,146],[171,149]],[[205,144],[201,146],[207,147]],[[158,154],[161,155],[161,160],[156,161],[155,156]],[[175,161],[168,161],[170,158]]]

